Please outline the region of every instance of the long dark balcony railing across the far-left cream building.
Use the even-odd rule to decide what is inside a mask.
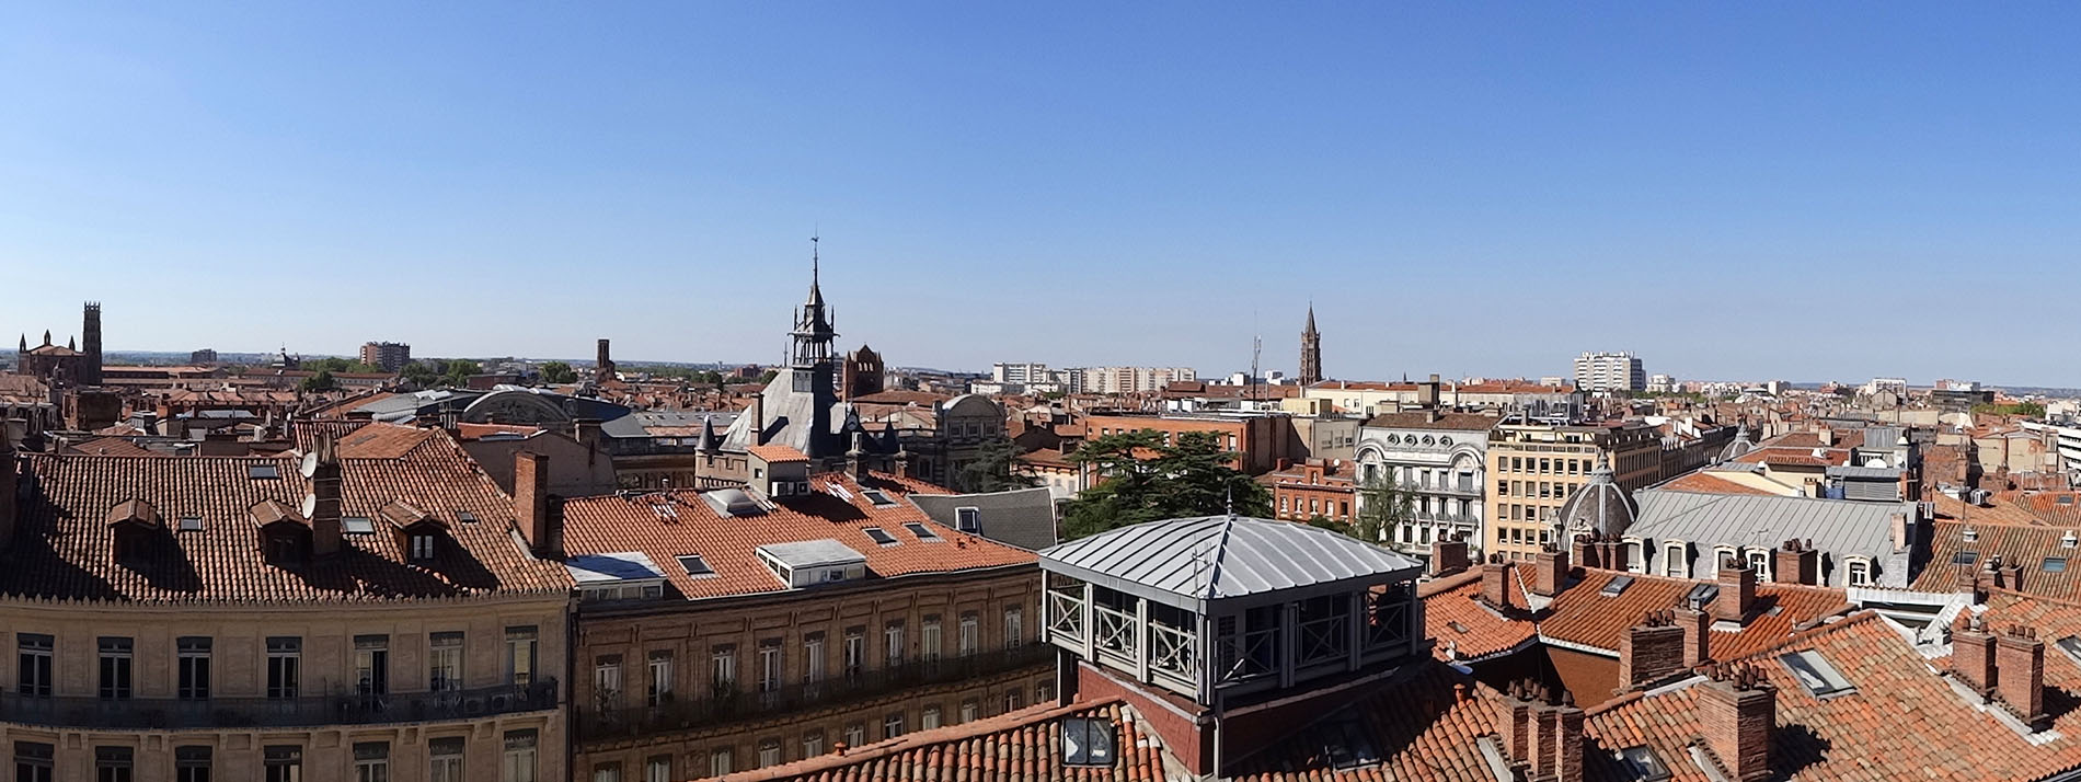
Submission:
[[[300,699],[123,699],[0,693],[0,722],[46,728],[310,728],[472,720],[556,709],[554,678],[449,693],[325,695]]]

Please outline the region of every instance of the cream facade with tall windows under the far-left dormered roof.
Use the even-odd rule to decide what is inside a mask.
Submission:
[[[15,659],[0,666],[0,749],[10,774],[27,763],[31,774],[48,770],[31,780],[58,782],[185,782],[196,776],[177,765],[204,747],[206,780],[360,780],[358,765],[377,763],[393,782],[564,780],[566,607],[566,593],[279,605],[6,599],[0,643]],[[529,630],[535,641],[514,676],[512,653]],[[183,690],[200,684],[198,638],[208,641],[206,697]],[[296,638],[296,697],[268,693],[271,649],[285,655],[283,638]],[[375,651],[377,638],[385,693],[364,697],[358,661],[375,657],[358,647]],[[435,643],[456,651],[437,655]],[[48,682],[35,661],[46,655]],[[452,690],[431,693],[437,657],[460,661]],[[106,690],[121,682],[104,682],[114,661],[129,668],[127,699]],[[271,749],[277,759],[293,749],[293,776],[279,765],[271,774]],[[435,776],[437,751],[456,776]]]

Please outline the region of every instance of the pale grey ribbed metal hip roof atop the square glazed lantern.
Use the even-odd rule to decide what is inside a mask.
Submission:
[[[1040,568],[1188,605],[1384,576],[1419,564],[1307,524],[1199,516],[1061,543],[1040,551]]]

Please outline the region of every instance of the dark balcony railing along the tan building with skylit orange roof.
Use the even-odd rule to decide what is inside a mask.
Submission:
[[[576,707],[579,740],[633,738],[668,730],[689,730],[745,718],[770,718],[807,707],[843,705],[907,688],[947,684],[1018,672],[1055,659],[1055,647],[1028,643],[1018,649],[984,651],[966,657],[909,661],[895,668],[832,676],[820,682],[782,684],[780,688],[722,690],[687,697],[668,695],[664,703],[639,707]]]

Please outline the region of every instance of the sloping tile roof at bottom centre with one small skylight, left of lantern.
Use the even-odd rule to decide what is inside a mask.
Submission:
[[[1111,767],[1065,765],[1061,720],[1103,718],[1120,726],[1117,761]],[[920,730],[845,755],[822,755],[755,772],[726,774],[718,782],[1157,782],[1165,780],[1161,745],[1142,734],[1117,701],[1034,705],[959,726]]]

